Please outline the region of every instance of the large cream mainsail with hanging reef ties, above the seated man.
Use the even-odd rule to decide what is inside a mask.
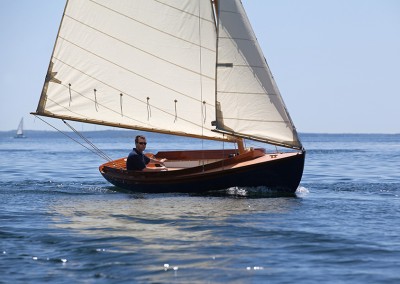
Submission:
[[[70,0],[36,113],[226,140],[215,64],[211,1]]]

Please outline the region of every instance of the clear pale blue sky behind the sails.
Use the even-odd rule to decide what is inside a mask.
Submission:
[[[242,2],[299,132],[400,133],[400,1]],[[64,5],[0,0],[0,131],[49,129],[29,112]]]

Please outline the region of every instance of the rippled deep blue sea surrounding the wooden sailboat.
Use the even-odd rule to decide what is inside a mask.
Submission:
[[[84,134],[118,158],[135,133]],[[295,197],[122,193],[61,134],[13,135],[0,132],[0,283],[400,283],[400,135],[302,134]]]

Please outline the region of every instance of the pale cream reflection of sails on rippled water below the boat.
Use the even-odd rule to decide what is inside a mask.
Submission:
[[[225,234],[219,236],[220,230],[227,226],[230,229],[257,226],[257,223],[265,226],[262,216],[284,214],[301,203],[296,198],[183,194],[106,194],[96,196],[96,200],[93,196],[73,197],[49,208],[53,211],[55,226],[84,235],[134,237],[141,242],[150,241],[152,246],[157,245],[155,240],[210,241],[210,235],[215,240]]]

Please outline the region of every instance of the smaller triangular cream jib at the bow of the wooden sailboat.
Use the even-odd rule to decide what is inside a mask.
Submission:
[[[240,0],[218,3],[217,129],[301,148]]]

